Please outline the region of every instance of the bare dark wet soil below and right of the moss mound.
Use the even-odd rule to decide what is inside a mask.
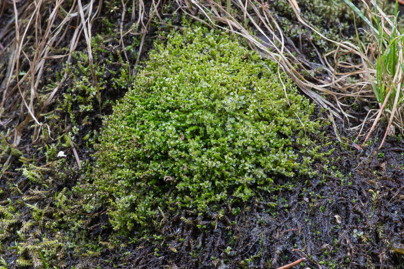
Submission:
[[[331,129],[328,135],[334,137]],[[404,147],[394,141],[385,143],[380,152],[375,151],[377,144],[362,151],[333,147],[324,176],[295,179],[291,189],[263,193],[248,204],[229,204],[217,229],[214,218],[183,214],[195,225],[206,225],[199,229],[170,216],[163,242],[104,250],[101,257],[110,262],[105,266],[278,268],[306,257],[304,265],[296,268],[400,268],[404,258],[390,244],[404,242]],[[238,206],[242,212],[234,214]],[[335,215],[341,217],[340,224]],[[108,235],[101,225],[107,225],[106,216],[92,227],[93,236]],[[363,231],[362,237],[354,236],[355,229]]]

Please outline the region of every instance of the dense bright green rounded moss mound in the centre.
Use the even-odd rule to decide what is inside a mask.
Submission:
[[[224,32],[172,32],[105,121],[88,198],[107,201],[126,231],[246,201],[273,190],[274,177],[311,176],[314,105],[281,79],[276,63]]]

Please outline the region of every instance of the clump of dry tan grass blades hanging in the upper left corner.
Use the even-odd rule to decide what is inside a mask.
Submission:
[[[46,60],[69,56],[67,61],[70,61],[70,54],[75,50],[78,43],[77,29],[80,28],[80,25],[74,27],[76,28],[76,31],[74,38],[72,39],[69,53],[65,55],[51,55],[55,48],[54,44],[56,43],[56,46],[59,46],[61,40],[63,40],[63,37],[67,33],[69,29],[67,25],[71,24],[71,22],[78,16],[77,12],[74,13],[74,10],[77,9],[76,0],[74,0],[73,3],[69,3],[69,7],[71,8],[68,12],[62,7],[64,3],[64,0],[57,1],[53,6],[51,4],[51,8],[50,6],[47,8],[45,5],[50,3],[45,3],[42,0],[39,0],[27,2],[23,6],[20,5],[19,8],[17,8],[17,1],[14,0],[14,19],[11,21],[11,24],[1,32],[2,36],[5,36],[8,33],[8,40],[13,40],[13,43],[11,44],[12,50],[9,54],[10,61],[8,62],[6,71],[7,79],[3,80],[1,85],[3,91],[2,101],[0,104],[1,111],[4,111],[5,109],[8,111],[8,113],[10,113],[13,109],[19,107],[19,101],[17,98],[15,98],[15,92],[17,91],[22,104],[26,108],[26,111],[21,110],[20,113],[28,112],[25,119],[15,126],[15,145],[20,143],[22,130],[32,120],[34,120],[36,123],[33,138],[34,142],[37,141],[42,126],[47,126],[46,124],[41,123],[38,119],[44,109],[51,103],[53,97],[60,87],[57,86],[48,97],[44,95],[41,96],[41,94],[38,92],[38,86],[43,81],[44,69],[47,68]],[[45,11],[48,11],[49,14],[46,14]],[[61,15],[62,13],[64,16]],[[62,20],[58,25],[56,25],[55,21],[58,17],[61,17]],[[46,26],[44,29],[42,28],[43,25]],[[10,32],[9,29],[13,28],[15,29],[15,32]],[[11,36],[12,33],[15,35]],[[34,33],[34,35],[29,36],[27,33]],[[29,36],[28,39],[27,36]],[[32,37],[35,37],[34,40],[32,40]],[[24,49],[24,47],[30,46],[34,47],[31,55],[27,54]],[[25,59],[21,60],[20,55],[24,55]],[[25,69],[21,71],[20,61],[24,61],[25,64],[28,63],[29,70]],[[20,73],[24,75],[21,77]],[[11,81],[14,77],[17,80],[17,84],[13,88],[10,88]],[[67,74],[64,74],[63,77],[66,78]],[[29,81],[27,80],[28,78]],[[26,101],[27,98],[29,99],[29,102]],[[46,101],[43,103],[42,99],[46,99]],[[8,107],[5,107],[6,101],[9,103]],[[38,111],[35,111],[36,109],[38,109]],[[49,127],[47,128],[50,135]]]

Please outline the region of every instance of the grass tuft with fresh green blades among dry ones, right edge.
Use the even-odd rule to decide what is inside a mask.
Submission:
[[[395,13],[386,16],[373,2],[374,13],[370,13],[372,21],[368,20],[364,13],[356,8],[351,1],[344,0],[353,11],[355,11],[368,26],[373,30],[369,34],[371,44],[366,48],[361,45],[356,47],[356,53],[361,55],[364,71],[367,74],[367,85],[371,87],[379,105],[379,110],[375,113],[376,118],[365,138],[364,143],[372,135],[382,114],[388,119],[387,128],[379,149],[388,134],[394,134],[394,127],[400,128],[403,134],[403,91],[402,81],[404,79],[404,59],[403,46],[404,34],[401,25],[398,23],[398,1],[396,0]],[[368,9],[369,10],[369,9]],[[358,43],[360,39],[357,32]]]

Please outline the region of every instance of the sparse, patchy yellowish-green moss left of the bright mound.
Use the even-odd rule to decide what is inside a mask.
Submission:
[[[107,10],[107,17],[97,22],[91,42],[103,114],[109,113],[111,103],[122,96],[122,88],[133,78],[124,50],[119,46],[119,31],[112,32],[119,29],[120,21],[109,14]],[[129,59],[137,58],[140,40],[139,36],[124,37],[125,44],[130,43],[125,50]],[[80,42],[69,63],[46,64],[43,82],[47,84],[38,86],[42,102],[58,84],[61,86],[53,104],[38,118],[46,122],[46,127],[27,126],[19,147],[13,145],[13,128],[0,132],[0,162],[6,163],[0,180],[0,269],[1,265],[7,267],[2,258],[9,267],[14,264],[27,268],[63,268],[67,255],[76,256],[76,261],[88,259],[87,264],[97,265],[92,256],[99,252],[101,240],[88,235],[91,216],[77,210],[82,204],[81,196],[74,196],[71,189],[80,175],[89,177],[89,158],[94,152],[93,130],[101,126],[103,116],[97,114],[100,104],[86,42]],[[144,48],[147,44],[146,40]],[[62,76],[65,72],[66,79]],[[39,138],[30,147],[23,146],[32,142],[34,127],[42,128]],[[82,161],[81,169],[77,168],[70,141]],[[60,151],[67,156],[58,156]],[[10,162],[7,161],[9,156]]]

